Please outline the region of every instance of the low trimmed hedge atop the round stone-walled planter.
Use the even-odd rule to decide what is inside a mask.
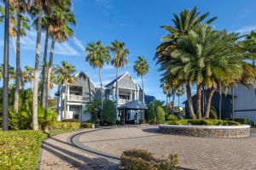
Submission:
[[[205,125],[205,126],[239,126],[240,122],[225,121],[218,119],[182,119],[178,121],[168,121],[169,125]]]

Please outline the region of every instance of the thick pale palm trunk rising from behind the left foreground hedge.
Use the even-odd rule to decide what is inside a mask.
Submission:
[[[34,71],[33,99],[32,99],[33,130],[38,130],[38,75],[39,75],[39,61],[40,61],[42,16],[43,16],[43,7],[40,7],[39,15],[38,15],[38,35],[37,35],[36,62],[35,62],[35,71]]]

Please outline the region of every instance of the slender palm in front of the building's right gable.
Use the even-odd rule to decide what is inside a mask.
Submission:
[[[109,47],[110,50],[114,53],[113,59],[111,61],[112,65],[116,68],[116,77],[115,77],[115,106],[116,110],[119,104],[119,94],[118,94],[118,77],[119,77],[119,68],[124,67],[128,63],[128,54],[129,50],[125,48],[125,42],[119,42],[115,40],[111,43]]]

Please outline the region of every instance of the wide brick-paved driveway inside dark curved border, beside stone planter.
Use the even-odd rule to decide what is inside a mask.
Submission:
[[[256,169],[255,134],[247,139],[207,139],[162,134],[157,127],[120,127],[76,138],[74,143],[80,147],[113,157],[124,150],[143,149],[155,156],[177,153],[185,169]]]

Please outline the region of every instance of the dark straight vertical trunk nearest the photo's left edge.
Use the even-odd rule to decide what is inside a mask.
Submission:
[[[3,52],[3,131],[8,131],[9,109],[9,0],[5,1]]]

